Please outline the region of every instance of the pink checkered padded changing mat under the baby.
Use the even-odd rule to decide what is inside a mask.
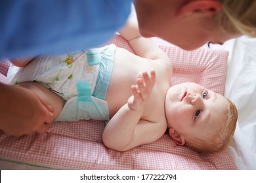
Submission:
[[[110,42],[133,51],[118,35]],[[227,52],[185,52],[167,45],[160,47],[173,61],[172,84],[198,82],[224,93]],[[237,169],[227,150],[213,154],[194,152],[177,146],[167,134],[127,152],[110,150],[102,144],[104,127],[102,121],[80,120],[56,122],[47,133],[32,136],[12,137],[0,131],[0,158],[60,169]]]

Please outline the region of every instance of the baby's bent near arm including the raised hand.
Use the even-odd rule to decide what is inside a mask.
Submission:
[[[137,84],[131,87],[133,95],[108,122],[102,140],[108,148],[125,151],[140,144],[154,142],[163,132],[160,124],[141,119],[156,80],[155,71],[151,77],[147,72],[137,76]]]

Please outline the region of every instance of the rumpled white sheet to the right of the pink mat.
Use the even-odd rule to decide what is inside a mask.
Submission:
[[[238,108],[238,124],[228,149],[238,169],[256,169],[256,39],[243,36],[221,48],[230,52],[225,95]]]

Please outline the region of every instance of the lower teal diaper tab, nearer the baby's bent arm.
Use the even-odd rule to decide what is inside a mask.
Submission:
[[[91,84],[90,82],[77,81],[77,101],[91,102]]]

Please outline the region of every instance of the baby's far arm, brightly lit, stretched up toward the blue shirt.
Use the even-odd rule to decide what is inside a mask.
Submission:
[[[165,52],[163,52],[152,39],[140,35],[138,24],[134,20],[127,20],[125,26],[119,30],[119,34],[129,41],[129,44],[137,56],[153,60],[169,60]]]

